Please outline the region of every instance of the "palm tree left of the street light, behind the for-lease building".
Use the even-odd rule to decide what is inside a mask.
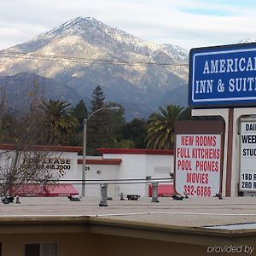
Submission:
[[[59,100],[43,101],[39,105],[46,143],[67,144],[75,134],[79,122],[73,116],[73,109],[69,106],[69,103]]]

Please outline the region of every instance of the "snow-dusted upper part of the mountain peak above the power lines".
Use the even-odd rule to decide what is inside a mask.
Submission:
[[[47,49],[44,47],[49,46]],[[65,49],[65,47],[68,48]],[[96,20],[93,17],[76,17],[68,20],[61,26],[44,32],[32,40],[10,48],[16,52],[35,52],[40,50],[44,54],[58,54],[80,56],[80,49],[90,49],[94,56],[104,49],[101,56],[112,55],[122,61],[135,61],[143,55],[145,61],[186,62],[188,52],[185,49],[171,44],[156,44],[137,38],[127,32],[114,28]],[[77,51],[77,53],[76,53]],[[92,55],[91,55],[92,56]],[[97,58],[96,57],[96,58]]]

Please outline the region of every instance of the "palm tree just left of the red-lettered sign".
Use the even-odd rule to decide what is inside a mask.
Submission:
[[[145,125],[147,148],[172,149],[174,145],[174,125],[177,119],[183,118],[184,108],[165,105],[160,113],[153,113]]]

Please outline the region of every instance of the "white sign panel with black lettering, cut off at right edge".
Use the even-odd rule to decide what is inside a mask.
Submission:
[[[240,190],[256,191],[256,121],[241,122]]]

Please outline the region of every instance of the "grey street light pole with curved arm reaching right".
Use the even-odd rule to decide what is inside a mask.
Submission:
[[[95,112],[90,113],[87,119],[84,119],[84,140],[83,140],[83,170],[82,170],[82,196],[85,197],[85,179],[86,179],[86,135],[87,135],[87,122],[91,118],[92,115],[95,113],[102,111],[104,109],[108,110],[119,110],[119,107],[105,107],[105,108],[99,108]]]

